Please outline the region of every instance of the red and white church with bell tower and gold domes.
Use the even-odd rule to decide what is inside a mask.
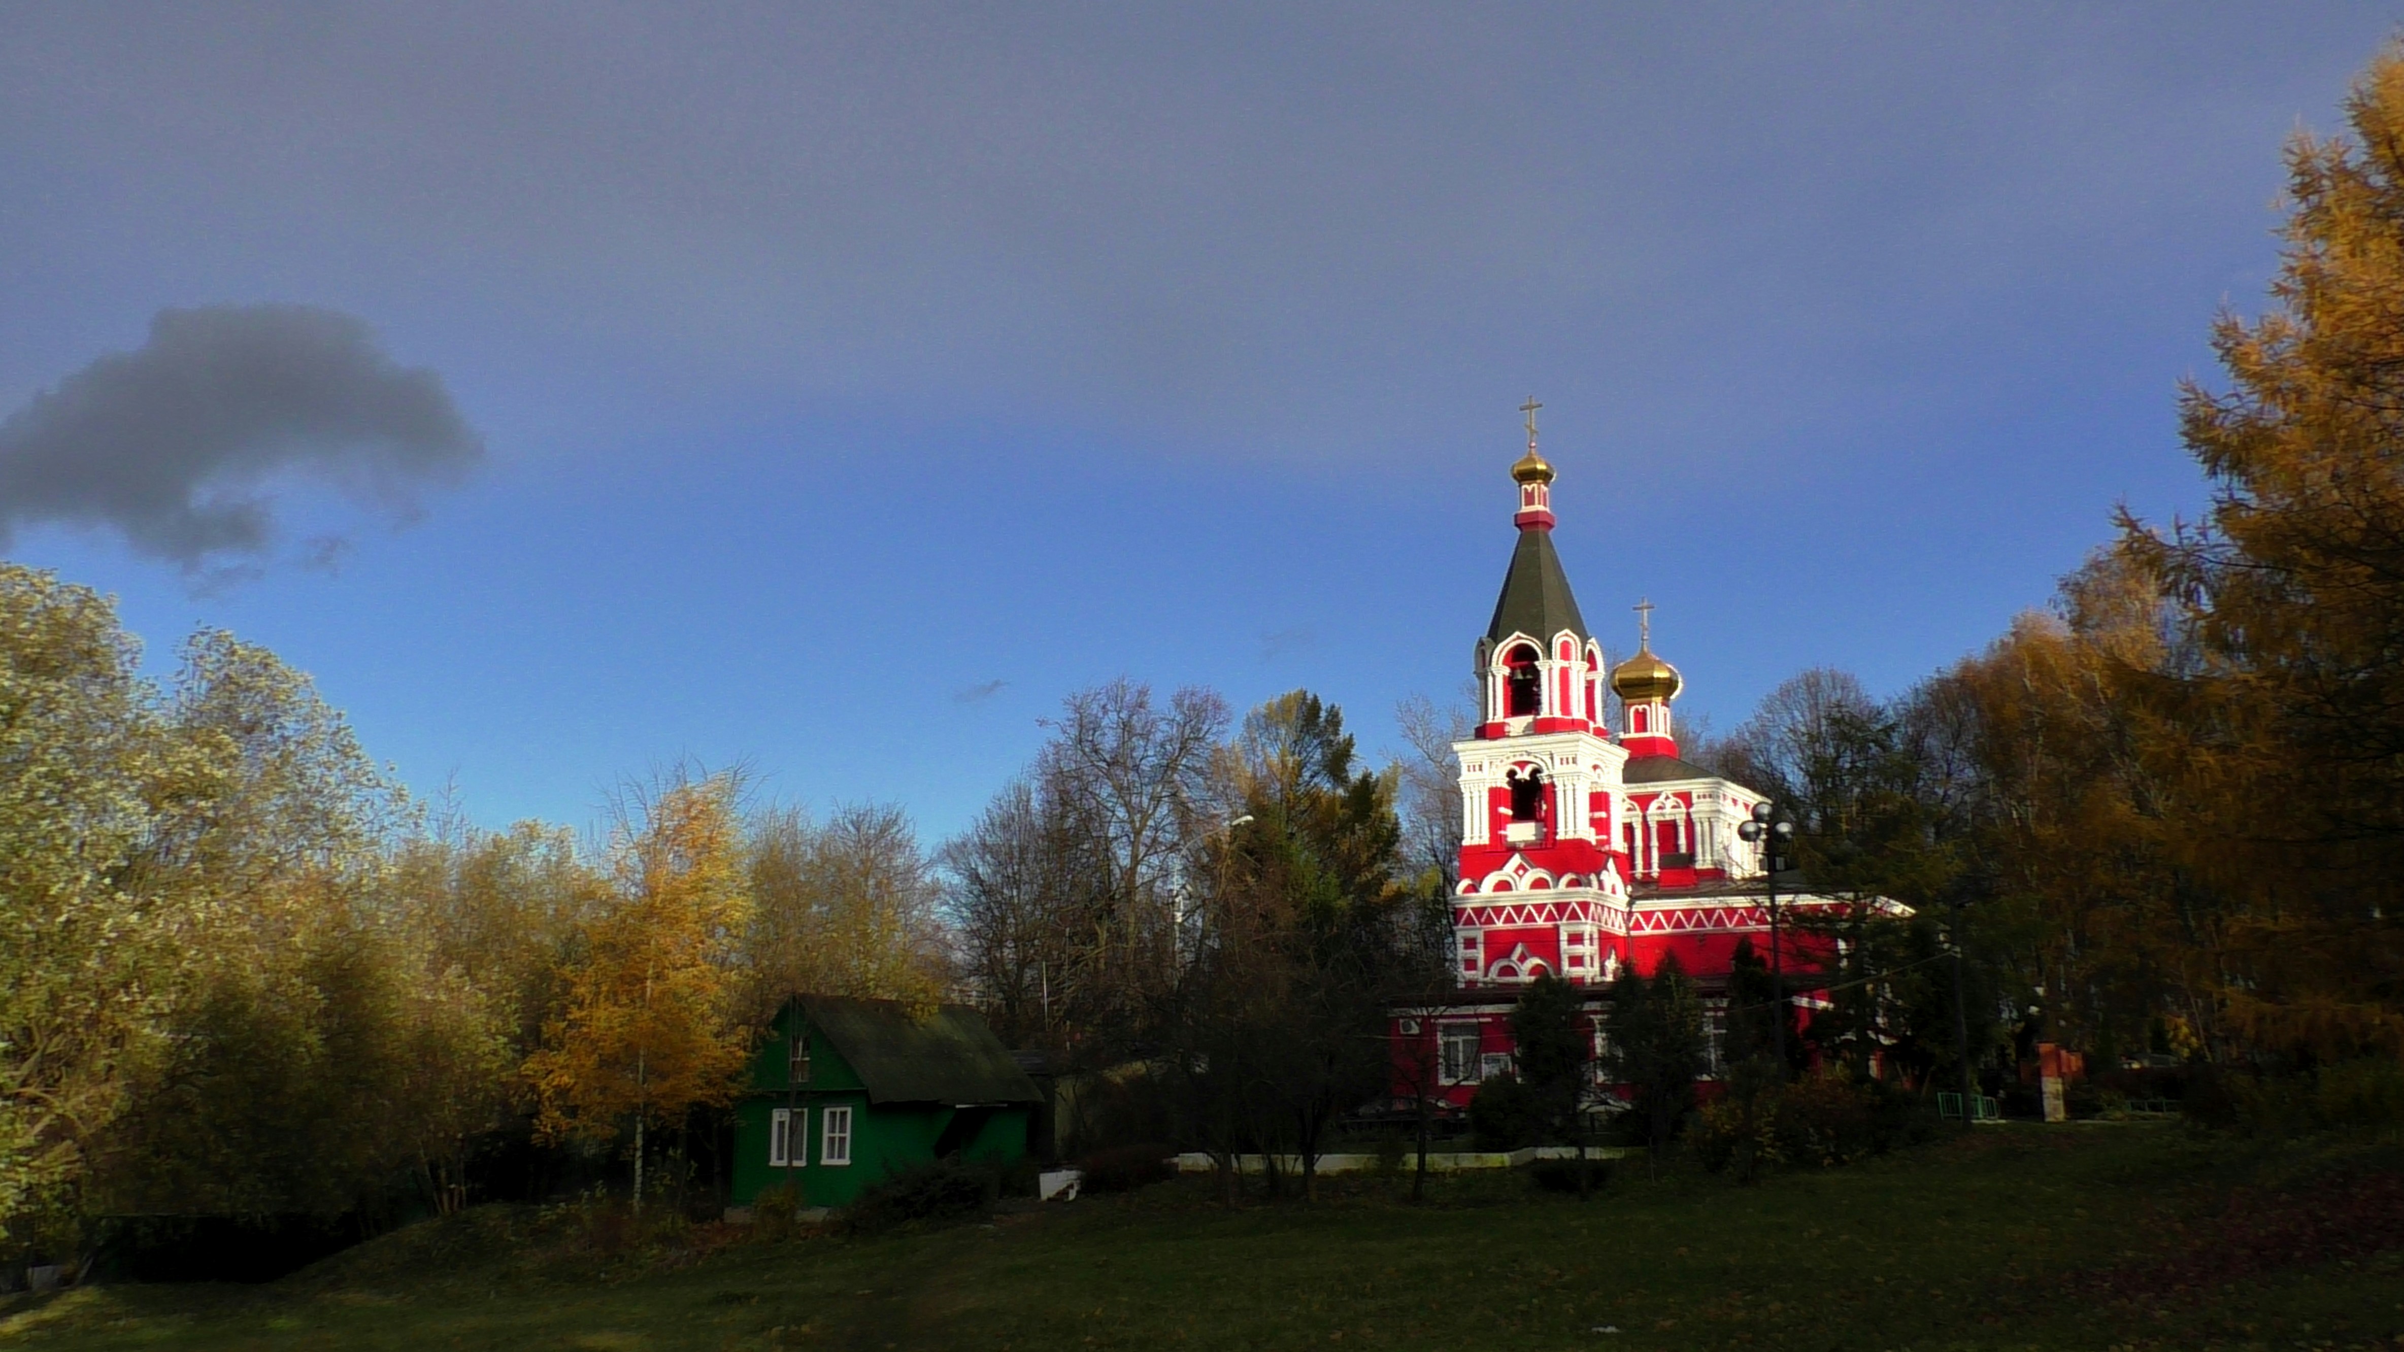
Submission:
[[[1676,953],[1704,991],[1716,1068],[1726,979],[1738,941],[1769,960],[1762,844],[1740,830],[1762,794],[1678,758],[1678,669],[1652,652],[1637,606],[1637,654],[1606,671],[1553,551],[1553,467],[1512,464],[1519,544],[1476,645],[1483,714],[1462,765],[1462,856],[1452,895],[1452,989],[1397,1008],[1397,1071],[1435,1071],[1438,1097],[1466,1107],[1512,1063],[1510,1008],[1541,972],[1603,986]],[[1611,729],[1606,690],[1620,698]],[[1793,895],[1781,876],[1789,984],[1817,969],[1796,912],[1841,902]],[[1810,994],[1791,996],[1805,1008]],[[1409,1092],[1409,1090],[1404,1090]]]

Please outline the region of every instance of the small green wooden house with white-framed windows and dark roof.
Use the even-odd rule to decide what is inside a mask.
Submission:
[[[1043,1097],[976,1010],[796,996],[772,1030],[736,1104],[736,1205],[793,1184],[839,1208],[950,1155],[1027,1157]]]

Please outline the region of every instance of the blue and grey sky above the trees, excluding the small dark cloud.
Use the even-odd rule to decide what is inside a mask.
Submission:
[[[2116,503],[2202,503],[2176,383],[2394,24],[10,7],[0,416],[161,308],[288,303],[486,455],[413,512],[296,462],[243,582],[0,500],[7,556],[154,654],[272,645],[486,823],[695,755],[940,837],[1120,674],[1310,686],[1387,748],[1466,674],[1534,392],[1584,613],[1625,650],[1652,597],[1685,712],[1902,690]]]

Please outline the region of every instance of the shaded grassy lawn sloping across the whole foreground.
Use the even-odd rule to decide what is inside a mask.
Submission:
[[[428,1222],[269,1287],[0,1304],[24,1347],[2394,1347],[2404,1152],[2012,1126],[1902,1160],[1361,1181],[1221,1210],[1180,1181],[998,1224],[570,1273],[526,1212]],[[514,1217],[514,1220],[512,1220]],[[1606,1333],[1615,1328],[1618,1333]]]

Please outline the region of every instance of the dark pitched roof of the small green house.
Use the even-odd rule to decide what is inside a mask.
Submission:
[[[801,996],[810,1025],[868,1085],[873,1104],[1034,1104],[1036,1083],[969,1006],[911,1015],[897,1001]]]

